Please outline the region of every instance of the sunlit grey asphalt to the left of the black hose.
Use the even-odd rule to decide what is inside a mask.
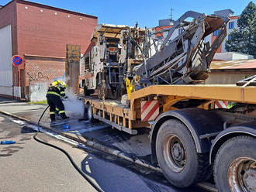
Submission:
[[[96,191],[57,149],[33,140],[34,133],[0,115],[0,191]]]

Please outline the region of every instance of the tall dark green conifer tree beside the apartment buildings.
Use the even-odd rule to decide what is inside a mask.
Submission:
[[[253,55],[256,58],[256,5],[249,2],[237,20],[239,29],[230,33],[226,42],[227,51]]]

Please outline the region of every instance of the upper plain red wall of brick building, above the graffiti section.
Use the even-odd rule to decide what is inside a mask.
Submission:
[[[20,55],[65,57],[66,44],[81,45],[81,53],[84,53],[98,23],[93,16],[64,12],[20,0],[17,0],[17,15]]]

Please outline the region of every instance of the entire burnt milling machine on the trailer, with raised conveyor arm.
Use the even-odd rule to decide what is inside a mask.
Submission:
[[[168,29],[140,29],[101,24],[92,34],[85,65],[84,93],[121,98],[155,84],[200,84],[206,80],[216,50],[227,36],[229,19],[185,12]],[[213,43],[205,37],[219,30]],[[157,38],[157,35],[161,38]]]

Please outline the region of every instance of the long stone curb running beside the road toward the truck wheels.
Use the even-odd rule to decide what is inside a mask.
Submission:
[[[19,119],[23,122],[27,122],[29,124],[38,126],[37,122],[33,122],[29,119],[13,115],[9,112],[0,110],[0,113],[2,113],[3,115],[11,116],[12,118],[17,118],[17,119]],[[43,129],[47,129],[51,132],[57,133],[58,135],[62,135],[64,137],[68,138],[68,139],[74,140],[76,142],[80,142],[80,143],[84,144],[85,146],[90,146],[93,149],[98,149],[98,150],[100,150],[104,153],[108,153],[109,155],[116,156],[116,158],[125,159],[125,160],[127,160],[131,163],[137,164],[139,166],[143,166],[143,167],[145,167],[147,169],[150,169],[150,170],[154,170],[157,173],[162,173],[161,169],[158,168],[158,167],[151,166],[150,164],[144,163],[140,159],[133,159],[130,156],[128,156],[126,153],[123,153],[123,152],[121,152],[119,150],[116,150],[116,149],[112,149],[112,148],[107,147],[107,146],[103,146],[99,142],[94,142],[92,140],[85,139],[84,137],[81,137],[79,135],[74,135],[74,134],[71,134],[69,132],[59,132],[57,130],[51,129],[50,127],[47,127],[47,126],[44,126],[44,125],[40,125],[40,127],[43,128]],[[216,188],[212,184],[209,184],[209,183],[197,183],[197,186],[201,187],[202,189],[209,190],[209,191],[212,191],[212,192],[217,191]]]

